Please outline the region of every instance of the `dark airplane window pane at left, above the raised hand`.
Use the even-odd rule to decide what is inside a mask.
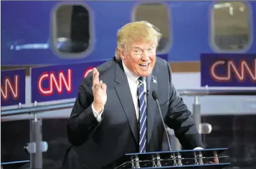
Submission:
[[[65,4],[55,12],[54,47],[63,53],[81,53],[90,46],[90,17],[84,6]]]

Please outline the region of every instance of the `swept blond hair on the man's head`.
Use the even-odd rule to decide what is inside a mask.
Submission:
[[[125,48],[128,43],[156,41],[156,46],[162,37],[160,31],[148,21],[135,21],[125,24],[118,30],[115,58],[120,59],[120,48]]]

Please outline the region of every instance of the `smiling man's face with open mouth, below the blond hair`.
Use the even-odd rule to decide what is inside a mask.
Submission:
[[[148,76],[156,63],[156,43],[133,43],[121,53],[125,66],[137,76]]]

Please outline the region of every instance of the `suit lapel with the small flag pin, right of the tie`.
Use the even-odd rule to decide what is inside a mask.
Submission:
[[[152,97],[152,92],[156,91],[157,93],[157,81],[156,76],[151,74],[147,78],[147,89],[148,89],[148,101],[147,101],[147,142],[149,143],[153,131],[153,122],[156,115],[156,101]]]

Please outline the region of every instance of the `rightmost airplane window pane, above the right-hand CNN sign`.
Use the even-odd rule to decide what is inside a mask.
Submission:
[[[218,51],[240,51],[250,45],[250,14],[240,1],[218,2],[212,9],[212,42]]]

